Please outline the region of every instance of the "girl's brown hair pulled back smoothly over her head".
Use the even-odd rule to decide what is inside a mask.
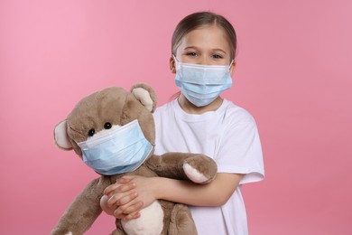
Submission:
[[[182,38],[190,33],[192,30],[199,29],[204,25],[217,25],[221,27],[227,35],[227,42],[230,46],[230,61],[236,57],[236,32],[234,27],[227,21],[227,19],[219,14],[211,12],[198,12],[189,14],[177,24],[171,39],[171,52],[176,55],[176,50],[179,47]]]

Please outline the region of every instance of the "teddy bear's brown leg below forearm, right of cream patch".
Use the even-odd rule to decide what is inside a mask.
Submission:
[[[184,204],[178,203],[175,204],[171,211],[171,220],[168,231],[168,235],[176,234],[198,234],[189,208]]]

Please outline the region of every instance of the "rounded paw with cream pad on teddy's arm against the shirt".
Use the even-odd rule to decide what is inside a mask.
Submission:
[[[206,155],[193,155],[183,164],[183,171],[193,183],[208,183],[217,174],[217,164]]]

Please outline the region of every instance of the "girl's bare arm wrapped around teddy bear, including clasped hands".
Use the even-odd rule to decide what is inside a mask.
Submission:
[[[211,183],[195,184],[163,177],[124,176],[107,187],[107,206],[116,209],[116,218],[125,220],[139,217],[139,211],[157,199],[220,206],[235,192],[242,177],[243,174],[220,173]]]

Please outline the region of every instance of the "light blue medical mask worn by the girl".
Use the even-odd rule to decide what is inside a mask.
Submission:
[[[182,63],[173,56],[176,64],[176,85],[182,94],[195,106],[210,104],[232,86],[229,65],[200,65]]]

